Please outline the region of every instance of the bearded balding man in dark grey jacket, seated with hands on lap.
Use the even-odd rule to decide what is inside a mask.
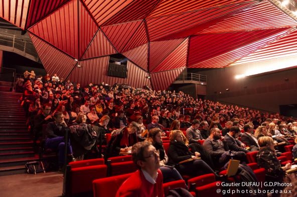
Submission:
[[[222,167],[230,158],[245,161],[246,154],[242,151],[229,150],[227,141],[221,136],[220,129],[212,128],[209,137],[204,141],[203,146],[213,159],[214,163],[218,163],[217,167]]]

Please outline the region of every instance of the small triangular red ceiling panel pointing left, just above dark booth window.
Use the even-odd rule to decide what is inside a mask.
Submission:
[[[148,43],[126,51],[123,55],[147,71]]]

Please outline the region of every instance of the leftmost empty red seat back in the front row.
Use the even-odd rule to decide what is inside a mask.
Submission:
[[[95,179],[106,177],[106,165],[92,165],[86,167],[76,167],[70,170],[70,193],[79,195],[93,191],[92,182]]]

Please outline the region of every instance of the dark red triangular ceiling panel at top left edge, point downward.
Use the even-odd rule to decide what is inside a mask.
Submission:
[[[31,0],[27,28],[69,0]]]

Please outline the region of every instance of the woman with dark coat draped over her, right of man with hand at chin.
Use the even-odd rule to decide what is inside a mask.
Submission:
[[[97,133],[90,124],[86,124],[87,116],[79,113],[70,128],[70,143],[76,160],[83,160],[84,155],[96,144]]]

